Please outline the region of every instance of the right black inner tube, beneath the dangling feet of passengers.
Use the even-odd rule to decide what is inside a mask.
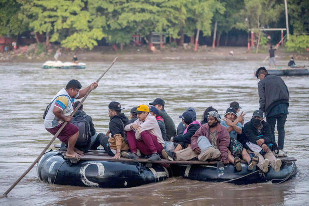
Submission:
[[[237,185],[252,183],[282,183],[297,174],[297,166],[294,158],[280,158],[282,166],[279,172],[275,172],[269,167],[267,173],[257,170],[248,171],[248,164],[241,164],[242,170],[236,171],[235,166],[226,165],[219,167],[217,165],[171,165],[173,176],[182,176],[183,178],[198,181],[228,182]]]

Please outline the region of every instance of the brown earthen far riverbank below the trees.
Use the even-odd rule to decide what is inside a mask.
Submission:
[[[6,54],[0,53],[0,62],[45,62],[53,60],[55,49],[49,49],[46,52],[36,54],[35,48],[32,50],[17,50],[10,51]],[[62,55],[59,60],[62,62],[71,61],[74,54],[77,55],[79,61],[82,62],[99,62],[110,61],[119,57],[118,61],[196,61],[196,60],[261,60],[263,61],[268,52],[256,54],[255,50],[247,50],[247,47],[207,47],[206,45],[199,46],[197,51],[193,50],[193,46],[188,44],[185,47],[170,47],[163,46],[161,50],[158,48],[155,51],[149,51],[147,45],[144,46],[127,46],[123,51],[119,49],[115,51],[111,46],[97,46],[93,50],[78,50],[69,51],[62,49]],[[232,52],[231,52],[232,51]],[[261,50],[260,50],[261,51]],[[231,55],[230,53],[233,53]],[[281,60],[289,60],[291,56],[297,60],[308,60],[309,52],[302,54],[287,52],[286,48],[279,47],[276,51],[276,58]]]

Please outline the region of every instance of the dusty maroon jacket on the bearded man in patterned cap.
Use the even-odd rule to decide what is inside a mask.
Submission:
[[[197,139],[200,136],[205,136],[208,138],[209,142],[211,142],[210,134],[208,132],[209,125],[204,124],[201,126],[195,134],[191,137],[191,149],[194,150],[195,148],[198,148],[197,145]],[[230,144],[230,134],[228,133],[227,129],[222,126],[220,123],[217,124],[217,134],[216,134],[216,140],[217,145],[221,153],[221,160],[227,160],[228,155],[228,146]]]

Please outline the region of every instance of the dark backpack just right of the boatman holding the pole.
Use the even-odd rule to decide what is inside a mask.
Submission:
[[[79,136],[75,147],[87,147],[91,141],[90,125],[86,119],[87,114],[73,117],[71,123],[79,129]]]

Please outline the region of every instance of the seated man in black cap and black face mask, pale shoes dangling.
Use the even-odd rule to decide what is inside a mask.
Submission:
[[[260,146],[256,151],[253,147],[250,149],[259,157],[258,167],[264,172],[268,172],[268,164],[278,172],[281,167],[281,160],[277,159],[269,149],[272,143],[272,129],[271,125],[263,120],[263,112],[256,110],[253,112],[252,119],[245,124],[244,133],[250,143]],[[257,148],[253,145],[255,148]]]

